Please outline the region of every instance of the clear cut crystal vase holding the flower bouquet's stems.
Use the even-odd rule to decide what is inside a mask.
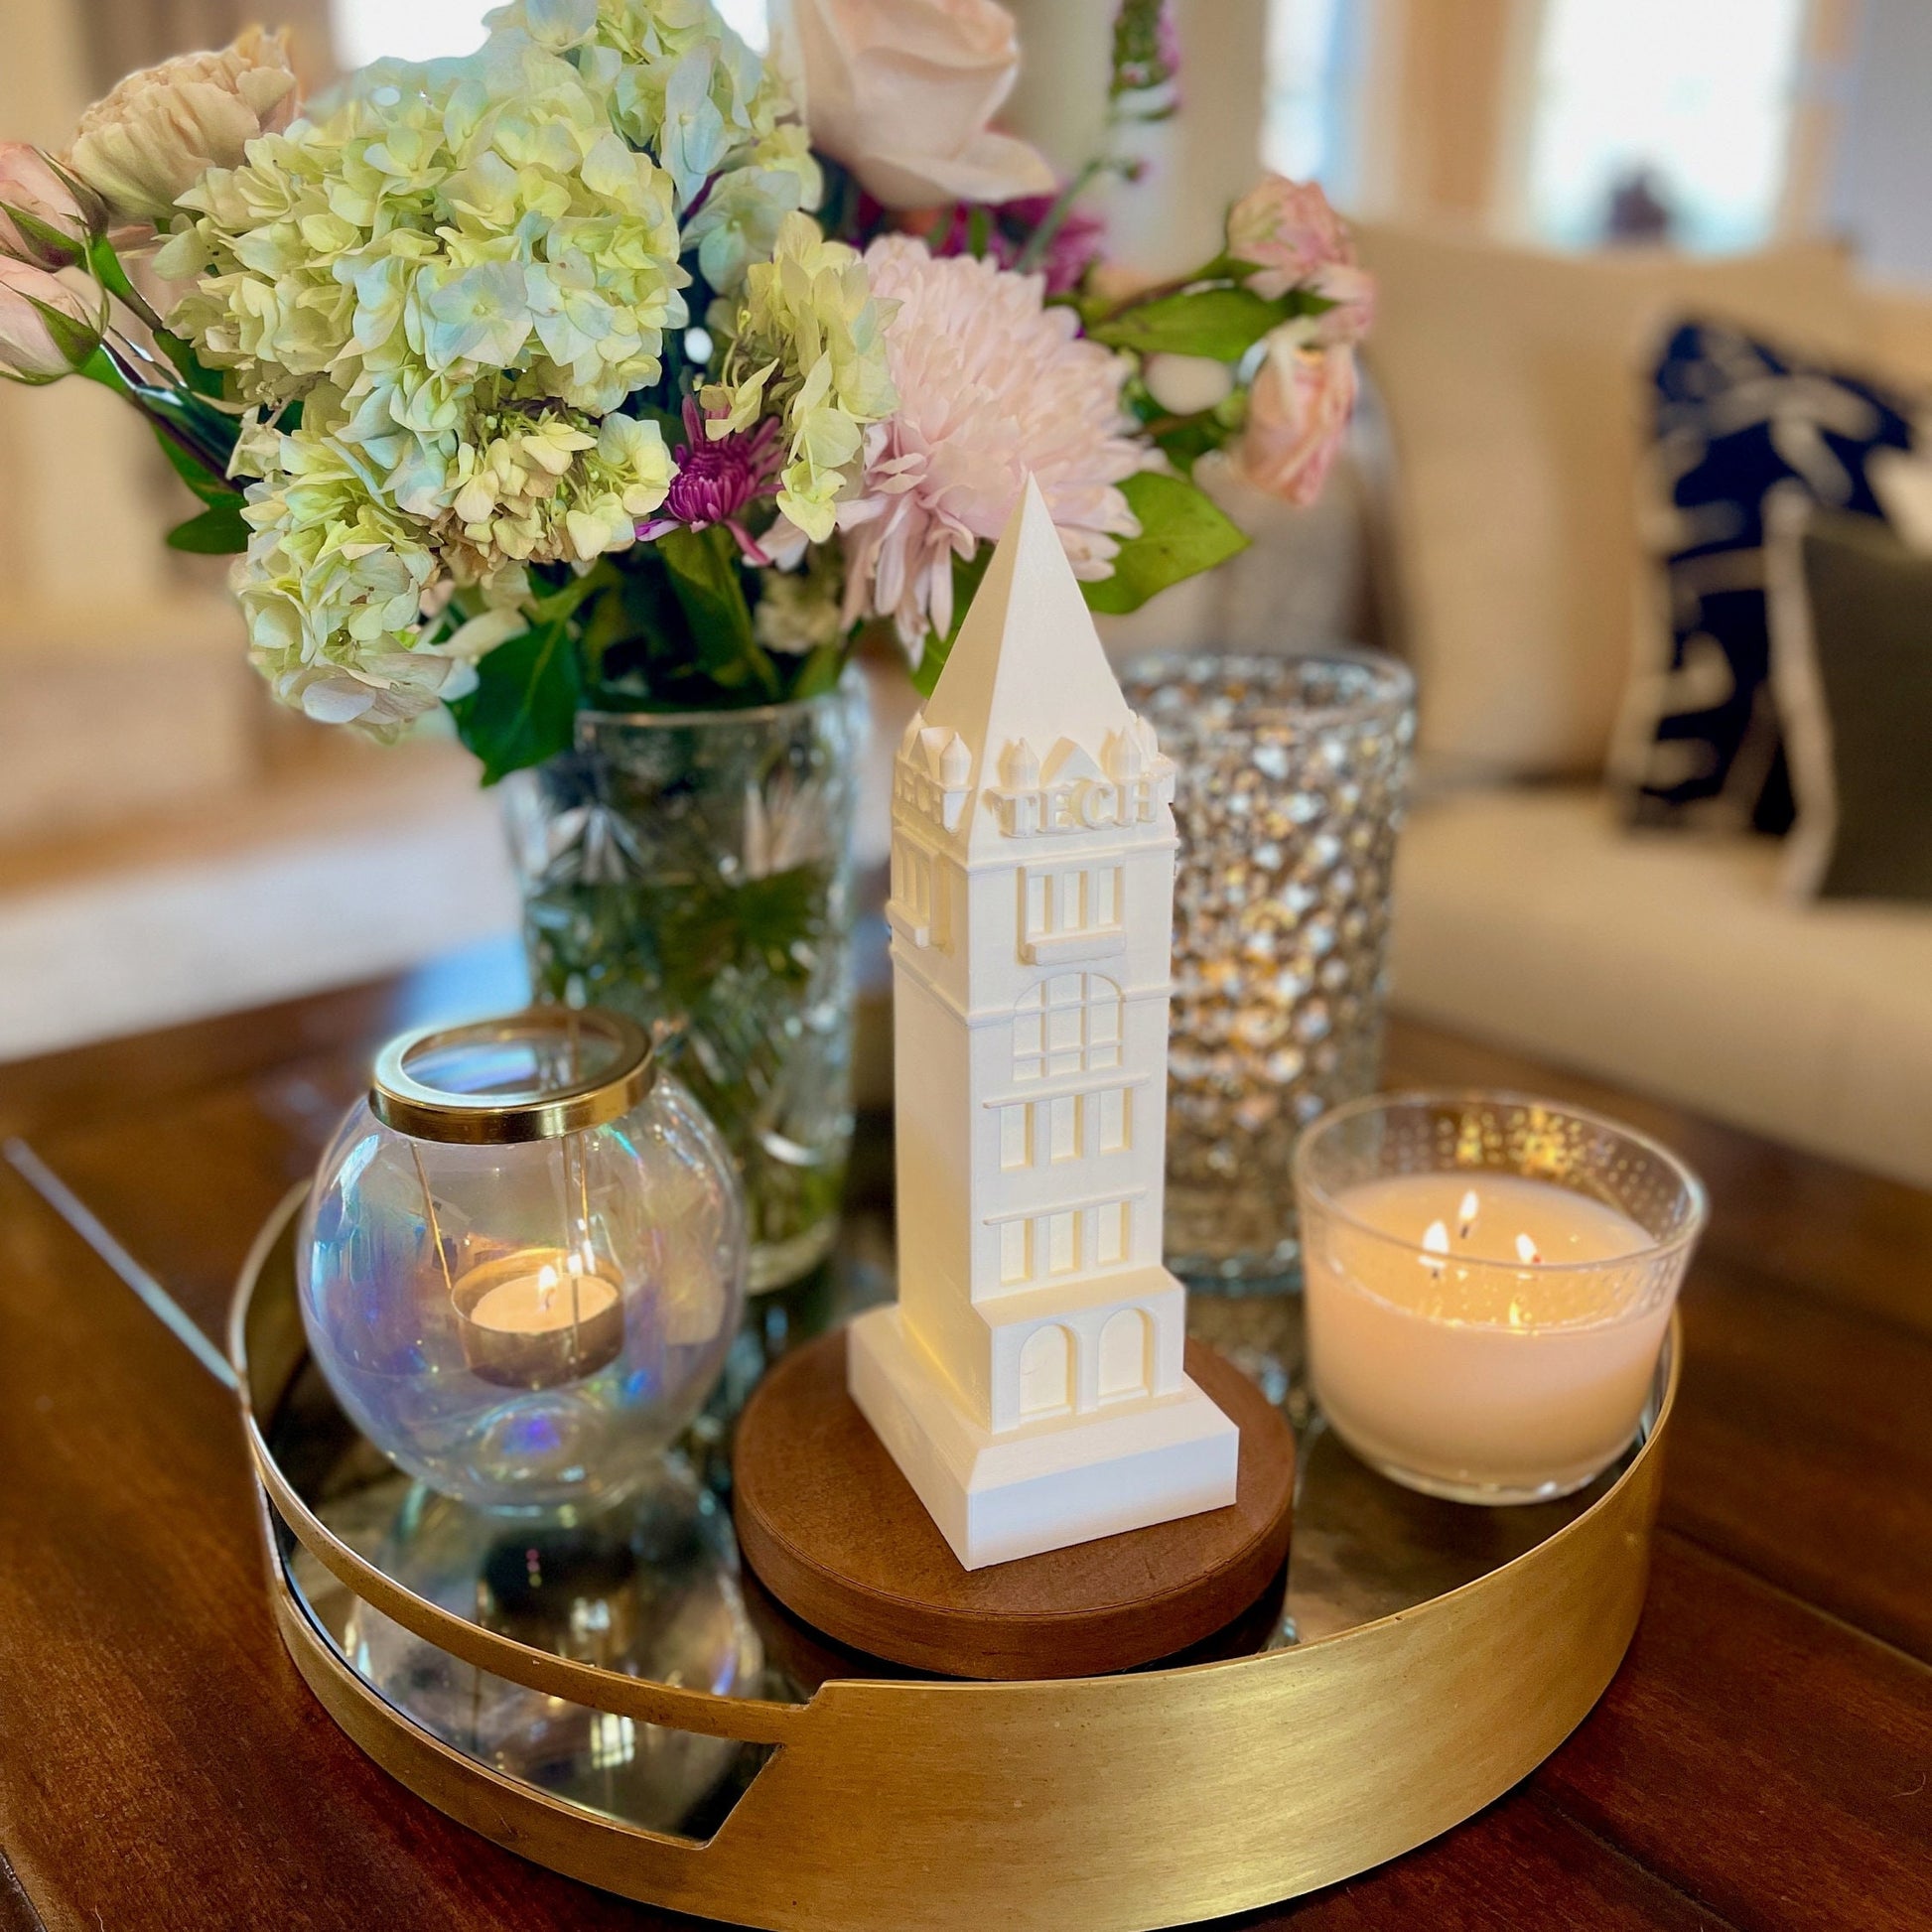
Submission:
[[[742,711],[583,711],[504,786],[539,999],[614,1007],[717,1122],[744,1177],[753,1291],[838,1225],[852,1142],[856,674]]]

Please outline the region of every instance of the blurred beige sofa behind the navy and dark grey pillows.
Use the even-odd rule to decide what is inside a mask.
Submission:
[[[1932,912],[1793,904],[1762,840],[1636,837],[1602,775],[1654,622],[1636,371],[1706,311],[1932,394],[1932,307],[1828,249],[1559,259],[1370,230],[1422,688],[1395,1003],[1932,1184]]]

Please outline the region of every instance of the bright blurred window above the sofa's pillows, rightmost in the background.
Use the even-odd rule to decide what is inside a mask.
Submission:
[[[1804,0],[1544,0],[1536,234],[1760,247],[1785,185],[1803,37]]]

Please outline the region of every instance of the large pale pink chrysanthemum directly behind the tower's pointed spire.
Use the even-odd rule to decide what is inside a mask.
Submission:
[[[952,628],[952,558],[999,537],[1028,471],[1074,574],[1105,578],[1140,533],[1119,483],[1144,466],[1121,408],[1122,365],[1072,309],[1041,305],[1037,274],[935,261],[923,242],[866,249],[898,410],[866,431],[860,497],[840,504],[846,622],[891,616],[914,651]]]

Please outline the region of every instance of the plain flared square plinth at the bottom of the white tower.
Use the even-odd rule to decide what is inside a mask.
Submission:
[[[1173,1395],[993,1435],[893,1304],[846,1329],[846,1381],[970,1571],[1235,1501],[1240,1432],[1184,1376]]]

